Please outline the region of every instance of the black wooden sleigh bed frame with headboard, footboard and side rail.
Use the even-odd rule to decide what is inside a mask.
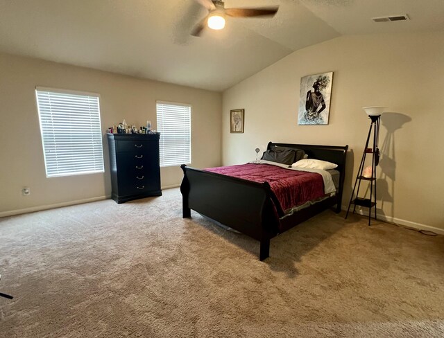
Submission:
[[[321,159],[336,163],[340,172],[336,195],[311,204],[291,215],[284,215],[273,204],[274,194],[267,182],[257,183],[237,177],[198,170],[182,165],[184,172],[180,192],[182,193],[183,217],[191,217],[191,209],[259,240],[259,260],[269,256],[270,240],[279,233],[308,220],[327,208],[336,205],[341,211],[345,157],[348,145],[302,145],[268,143],[267,150],[275,145],[302,149],[309,159]]]

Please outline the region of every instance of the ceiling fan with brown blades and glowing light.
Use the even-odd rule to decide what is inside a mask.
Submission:
[[[203,18],[191,31],[191,35],[198,37],[207,25],[212,29],[225,27],[225,16],[228,17],[273,17],[278,12],[279,6],[263,8],[225,8],[222,0],[195,0],[208,10],[208,15]]]

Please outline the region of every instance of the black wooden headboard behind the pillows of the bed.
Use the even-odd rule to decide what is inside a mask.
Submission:
[[[305,151],[309,159],[321,159],[329,161],[338,165],[338,170],[341,172],[339,178],[339,202],[342,199],[343,183],[345,179],[345,157],[347,156],[348,145],[313,145],[313,144],[293,144],[293,143],[273,143],[268,142],[266,147],[270,150],[275,145],[280,147],[297,148]]]

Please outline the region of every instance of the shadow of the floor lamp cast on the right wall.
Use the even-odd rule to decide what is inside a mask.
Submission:
[[[381,159],[379,160],[379,172],[381,175],[376,181],[377,194],[381,201],[378,211],[382,214],[384,214],[384,204],[391,203],[391,216],[395,215],[395,132],[401,129],[404,123],[410,121],[411,117],[402,113],[387,112],[381,116],[381,123],[387,130],[386,138],[379,149],[381,152]]]

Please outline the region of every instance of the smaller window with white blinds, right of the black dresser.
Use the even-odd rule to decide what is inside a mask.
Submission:
[[[191,163],[191,106],[157,101],[160,166]]]

